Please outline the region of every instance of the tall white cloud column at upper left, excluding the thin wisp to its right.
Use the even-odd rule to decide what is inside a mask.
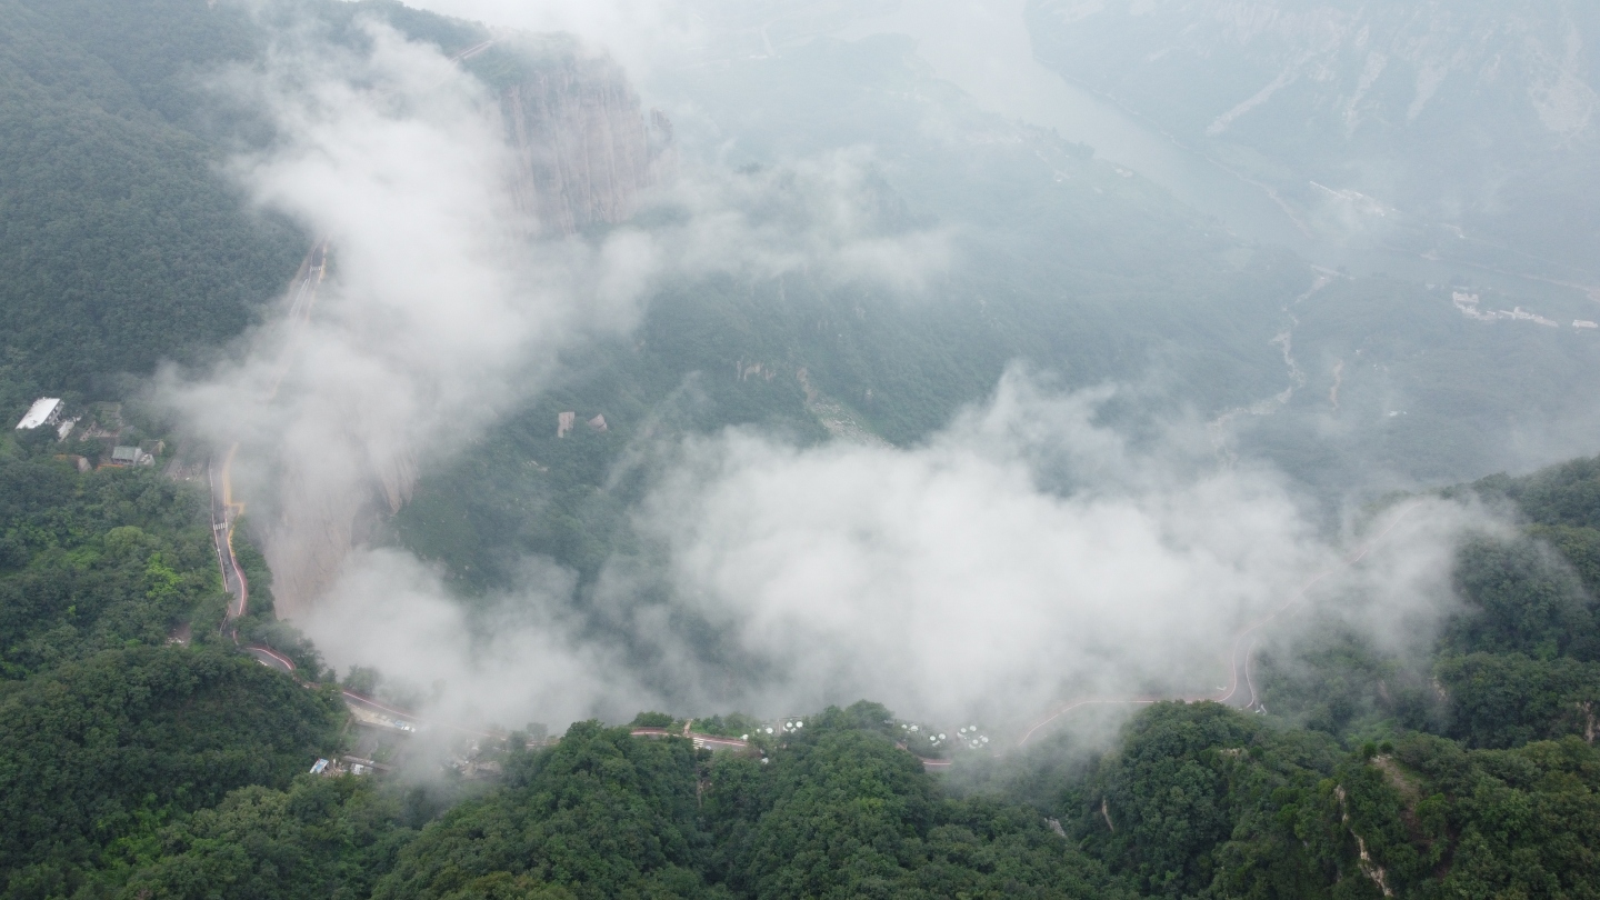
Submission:
[[[243,364],[168,384],[205,437],[242,445],[238,495],[267,512],[288,615],[328,583],[363,506],[394,509],[562,348],[627,328],[654,266],[629,232],[528,240],[493,99],[435,50],[366,32],[370,53],[286,40],[224,82],[278,133],[235,176],[328,242],[331,275]]]

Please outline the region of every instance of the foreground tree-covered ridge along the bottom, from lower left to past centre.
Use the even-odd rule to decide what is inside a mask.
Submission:
[[[579,722],[414,834],[392,801],[349,783],[251,788],[173,830],[173,854],[126,890],[362,897],[381,876],[373,897],[1133,897],[1038,812],[946,796],[883,716],[870,703],[813,716],[765,764]],[[282,878],[261,879],[267,865]]]

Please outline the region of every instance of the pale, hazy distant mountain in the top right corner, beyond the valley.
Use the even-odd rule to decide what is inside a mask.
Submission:
[[[1312,227],[1592,274],[1592,3],[1042,0],[1029,16],[1042,62]]]

